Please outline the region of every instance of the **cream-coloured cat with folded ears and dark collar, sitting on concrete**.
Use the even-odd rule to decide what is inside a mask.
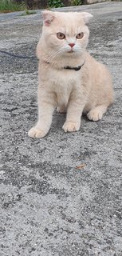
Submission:
[[[100,120],[113,102],[112,79],[106,67],[88,52],[89,13],[43,12],[43,29],[37,45],[39,58],[38,121],[29,131],[44,137],[53,111],[67,112],[63,129],[80,129],[81,115]]]

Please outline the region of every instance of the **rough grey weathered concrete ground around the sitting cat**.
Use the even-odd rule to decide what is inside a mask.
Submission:
[[[116,100],[77,133],[55,112],[49,134],[29,138],[41,11],[0,14],[2,256],[122,255],[122,2],[65,10],[94,15],[89,51],[111,70]]]

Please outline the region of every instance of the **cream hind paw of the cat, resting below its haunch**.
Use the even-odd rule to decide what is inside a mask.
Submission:
[[[100,105],[95,106],[92,110],[89,110],[87,117],[91,121],[98,121],[103,117],[103,114],[106,112],[107,106]]]

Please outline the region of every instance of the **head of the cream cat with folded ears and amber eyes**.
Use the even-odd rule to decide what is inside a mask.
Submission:
[[[86,25],[92,14],[78,12],[42,12],[43,29],[41,43],[53,58],[75,57],[82,54],[89,42]]]

